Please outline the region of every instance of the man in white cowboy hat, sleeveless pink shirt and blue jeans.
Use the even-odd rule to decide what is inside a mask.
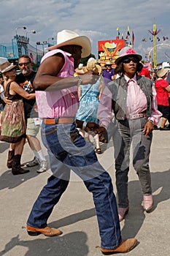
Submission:
[[[98,162],[90,143],[79,135],[77,127],[90,128],[91,124],[75,124],[78,108],[77,86],[94,83],[93,72],[74,77],[80,58],[89,56],[90,39],[74,31],[58,32],[58,45],[49,48],[43,56],[34,79],[36,102],[42,122],[42,140],[50,157],[50,176],[40,192],[28,217],[30,236],[61,235],[61,230],[47,226],[53,207],[69,184],[70,170],[77,173],[87,189],[93,193],[101,251],[105,253],[128,252],[136,246],[136,239],[122,240],[115,195],[109,174]]]

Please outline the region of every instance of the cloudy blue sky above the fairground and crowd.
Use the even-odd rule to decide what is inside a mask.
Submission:
[[[20,26],[27,27],[27,30],[18,29],[20,35],[36,31],[36,34],[28,33],[33,46],[50,37],[56,40],[58,31],[70,29],[90,38],[92,53],[98,58],[98,40],[115,39],[117,27],[120,35],[125,36],[129,26],[130,34],[134,31],[134,48],[144,57],[153,46],[148,30],[152,31],[154,18],[157,29],[161,29],[157,41],[158,62],[170,61],[169,0],[1,0],[0,42],[11,42]],[[163,41],[163,37],[169,39]],[[52,42],[56,43],[55,40]]]

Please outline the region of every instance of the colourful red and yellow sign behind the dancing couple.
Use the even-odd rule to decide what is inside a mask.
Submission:
[[[114,67],[115,59],[118,57],[119,50],[123,47],[125,47],[124,39],[98,41],[98,61],[101,66],[104,66],[107,61],[110,61]]]

